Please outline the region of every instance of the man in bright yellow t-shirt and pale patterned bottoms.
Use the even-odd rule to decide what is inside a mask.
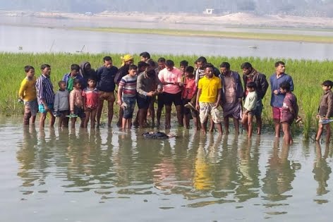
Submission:
[[[210,115],[222,135],[219,107],[221,101],[221,80],[214,76],[214,66],[207,64],[205,76],[198,82],[198,94],[195,108],[200,111],[200,123],[203,133],[207,133],[207,118]]]

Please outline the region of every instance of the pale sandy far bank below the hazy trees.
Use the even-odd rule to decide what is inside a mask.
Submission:
[[[60,13],[60,12],[23,12],[23,11],[0,11],[0,16],[8,17],[34,17],[34,18],[56,18],[71,19],[92,23],[99,23],[101,27],[111,26],[110,24],[126,23],[161,23],[164,25],[216,25],[216,26],[240,26],[240,27],[298,27],[298,28],[333,28],[332,18],[320,17],[299,17],[267,15],[258,16],[250,13],[234,13],[224,16],[217,15],[193,15],[185,13],[163,14],[163,13],[119,13],[103,12],[96,14]],[[108,25],[109,24],[109,25]]]

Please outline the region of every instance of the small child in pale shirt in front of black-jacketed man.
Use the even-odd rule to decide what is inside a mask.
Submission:
[[[255,82],[248,82],[246,84],[246,90],[248,90],[248,95],[244,102],[245,111],[243,113],[242,124],[248,132],[248,137],[252,137],[253,111],[255,111],[258,101],[258,95],[257,92],[255,92]]]

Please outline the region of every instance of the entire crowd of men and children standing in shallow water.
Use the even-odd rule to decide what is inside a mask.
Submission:
[[[174,61],[165,58],[154,61],[147,52],[140,54],[137,66],[130,54],[121,58],[121,67],[116,68],[112,58],[105,56],[103,66],[96,71],[89,62],[81,63],[80,66],[72,64],[71,71],[58,82],[57,92],[54,92],[49,78],[49,65],[41,66],[42,75],[39,78],[35,78],[35,68],[25,66],[26,77],[19,90],[20,101],[25,104],[24,124],[35,123],[39,111],[40,128],[44,128],[47,113],[50,115],[51,126],[58,117],[59,127],[68,127],[71,119],[71,128],[75,128],[77,118],[80,118],[82,128],[87,128],[89,121],[91,128],[99,127],[104,101],[107,101],[107,126],[111,127],[116,101],[119,105],[119,127],[160,126],[162,110],[165,109],[164,127],[168,129],[171,128],[171,109],[174,104],[179,127],[189,129],[190,119],[193,119],[195,130],[214,132],[216,126],[219,134],[222,134],[223,122],[224,132],[229,133],[229,118],[232,118],[235,133],[238,134],[241,121],[248,137],[251,137],[253,118],[256,121],[256,133],[261,134],[262,99],[270,85],[275,137],[280,136],[282,128],[284,142],[292,143],[291,123],[298,123],[301,118],[298,116],[296,96],[292,93],[293,79],[285,73],[283,61],[274,64],[275,73],[268,82],[266,76],[248,62],[241,65],[241,78],[241,75],[231,70],[228,62],[222,62],[216,68],[203,56],[193,66],[189,66],[188,61],[181,61],[179,68],[176,68]],[[320,140],[324,128],[328,140],[331,134],[329,124],[325,124],[325,121],[333,116],[332,87],[333,82],[330,80],[322,83],[324,95],[318,109],[320,126],[316,140]],[[133,120],[135,105],[138,111]],[[150,125],[148,118],[151,118]],[[210,128],[207,129],[209,119]]]

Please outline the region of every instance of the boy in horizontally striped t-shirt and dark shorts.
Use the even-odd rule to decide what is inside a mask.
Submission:
[[[118,88],[117,104],[123,108],[122,128],[131,128],[133,111],[136,102],[136,80],[138,78],[138,67],[131,65],[128,75],[121,78]]]

